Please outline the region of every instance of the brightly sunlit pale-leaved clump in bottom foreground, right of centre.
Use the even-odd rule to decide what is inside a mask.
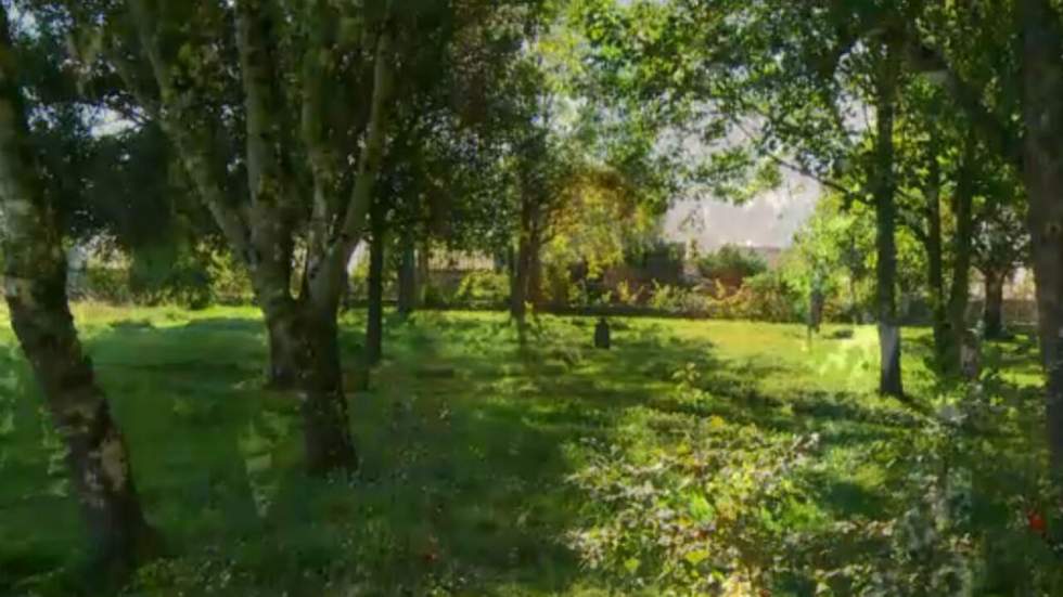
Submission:
[[[573,477],[593,521],[571,535],[574,548],[629,589],[767,590],[792,559],[787,536],[807,523],[799,473],[816,438],[766,438],[719,416],[654,427],[667,447],[595,445]]]

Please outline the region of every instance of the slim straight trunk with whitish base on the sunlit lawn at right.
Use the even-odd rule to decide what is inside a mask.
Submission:
[[[883,62],[876,80],[875,108],[875,248],[878,263],[876,306],[879,316],[879,391],[904,395],[900,373],[900,326],[897,321],[897,242],[894,180],[894,116],[899,76],[899,59],[892,41],[883,46]]]

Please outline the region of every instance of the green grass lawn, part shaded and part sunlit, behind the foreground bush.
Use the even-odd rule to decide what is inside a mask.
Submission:
[[[704,420],[816,433],[803,520],[874,519],[896,506],[875,455],[918,425],[872,391],[871,327],[809,343],[801,326],[616,320],[614,349],[595,351],[593,320],[543,317],[522,350],[502,314],[425,312],[388,320],[385,361],[350,397],[357,478],[311,481],[296,404],[261,389],[255,310],[76,311],[169,554],[136,594],[606,595],[607,575],[569,547],[589,524],[571,478],[595,445],[669,451]],[[347,324],[350,362],[361,326]],[[925,333],[906,340],[906,384],[930,400]],[[1036,381],[1032,352],[1001,354],[1008,379]],[[76,505],[40,405],[0,329],[3,595],[66,595],[77,577]]]

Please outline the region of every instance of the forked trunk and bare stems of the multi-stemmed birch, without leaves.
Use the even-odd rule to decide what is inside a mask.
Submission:
[[[279,86],[277,39],[269,0],[238,0],[235,46],[240,54],[246,126],[246,170],[249,196],[233,202],[227,193],[226,161],[212,143],[217,122],[195,109],[203,93],[175,52],[175,37],[185,31],[166,21],[168,4],[126,0],[161,98],[161,124],[174,142],[201,200],[210,210],[233,251],[246,264],[268,329],[270,376],[300,400],[307,469],[312,473],[350,470],[356,465],[340,367],[337,316],[346,288],[346,265],[364,233],[366,215],[380,170],[393,70],[390,26],[376,36],[371,106],[358,151],[354,189],[347,200],[336,197],[338,178],[323,138],[325,118],[318,100],[330,48],[306,52],[302,83],[303,142],[292,147],[293,111]],[[135,82],[127,81],[133,88]],[[303,205],[290,160],[305,158],[313,176],[312,205]],[[309,209],[307,209],[309,207]],[[295,223],[309,215],[308,257],[298,297],[292,295]]]

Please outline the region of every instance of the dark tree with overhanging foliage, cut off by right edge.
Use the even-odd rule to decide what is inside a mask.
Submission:
[[[911,67],[944,82],[979,137],[1015,171],[1028,198],[1052,468],[1063,469],[1063,17],[1050,0],[994,10],[928,3],[905,28]],[[1019,43],[1015,43],[1019,40]],[[1000,60],[1003,56],[1004,60]],[[994,85],[1007,81],[1008,85]]]

